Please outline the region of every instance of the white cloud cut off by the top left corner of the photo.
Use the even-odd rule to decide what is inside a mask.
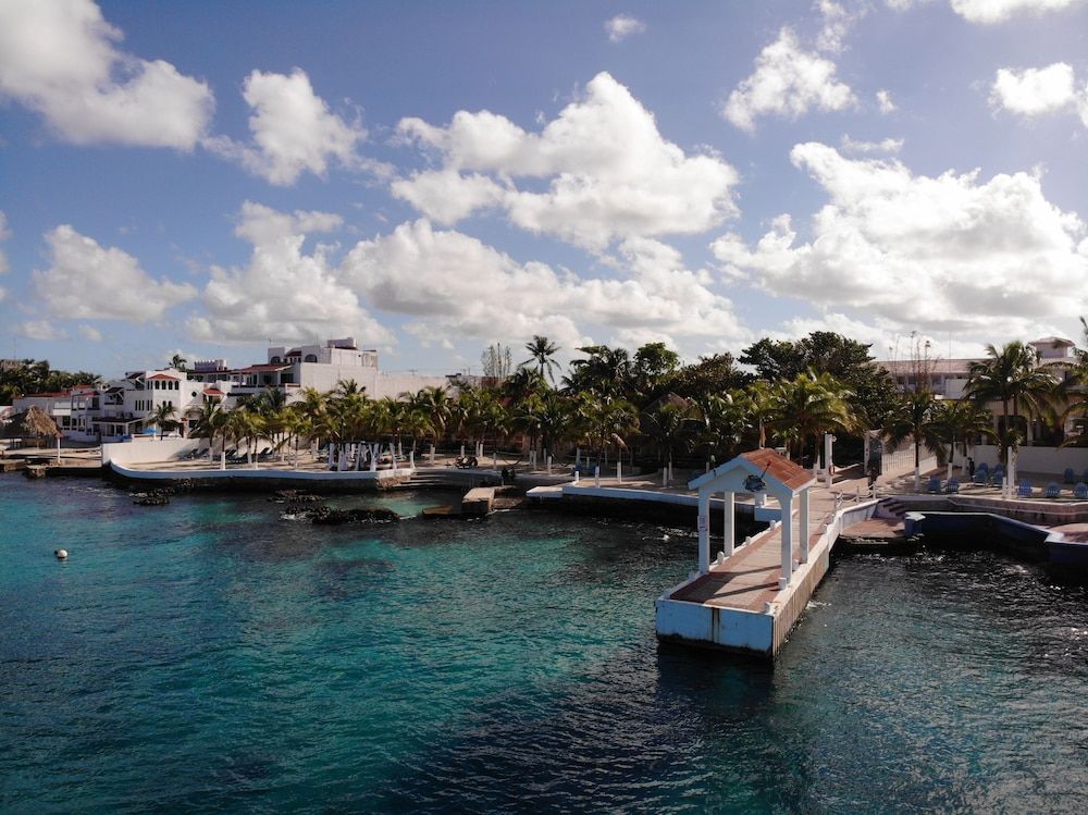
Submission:
[[[190,150],[214,109],[208,86],[162,60],[119,51],[91,0],[0,1],[0,95],[75,144]]]

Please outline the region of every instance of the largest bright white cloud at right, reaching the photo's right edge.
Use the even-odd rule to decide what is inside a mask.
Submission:
[[[1085,224],[1027,173],[914,175],[897,160],[850,160],[802,144],[793,163],[828,203],[807,243],[789,215],[755,246],[726,235],[712,248],[730,274],[817,307],[936,332],[1021,333],[1073,319],[1088,298]]]

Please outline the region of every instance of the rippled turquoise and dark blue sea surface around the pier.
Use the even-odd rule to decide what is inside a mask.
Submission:
[[[684,530],[283,509],[0,478],[0,812],[1088,812],[1088,595],[1034,567],[843,558],[770,669],[658,646]]]

